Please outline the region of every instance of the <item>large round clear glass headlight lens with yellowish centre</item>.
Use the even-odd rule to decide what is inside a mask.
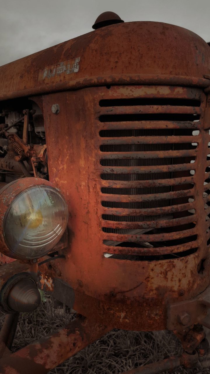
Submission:
[[[59,190],[44,185],[30,187],[6,211],[4,240],[15,256],[42,257],[59,242],[67,221],[67,203]]]

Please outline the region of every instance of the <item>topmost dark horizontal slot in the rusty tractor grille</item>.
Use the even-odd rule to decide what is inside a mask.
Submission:
[[[102,99],[100,107],[124,107],[135,105],[176,105],[185,107],[200,107],[200,100],[177,98],[130,98],[130,99]]]

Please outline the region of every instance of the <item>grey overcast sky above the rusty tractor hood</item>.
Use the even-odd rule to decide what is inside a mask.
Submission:
[[[0,65],[92,31],[98,15],[160,21],[210,41],[210,0],[0,0]]]

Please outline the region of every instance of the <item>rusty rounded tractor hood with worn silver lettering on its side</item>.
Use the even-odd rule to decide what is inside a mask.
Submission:
[[[0,99],[95,85],[209,86],[209,73],[210,50],[198,35],[159,22],[127,22],[0,67]]]

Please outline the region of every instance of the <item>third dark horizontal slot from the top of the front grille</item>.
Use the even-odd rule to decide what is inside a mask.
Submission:
[[[195,134],[196,133],[196,134]],[[185,129],[185,136],[198,136],[200,130],[192,131]],[[183,129],[119,129],[119,130],[101,130],[101,138],[118,138],[118,137],[155,137],[155,136],[182,136]]]

